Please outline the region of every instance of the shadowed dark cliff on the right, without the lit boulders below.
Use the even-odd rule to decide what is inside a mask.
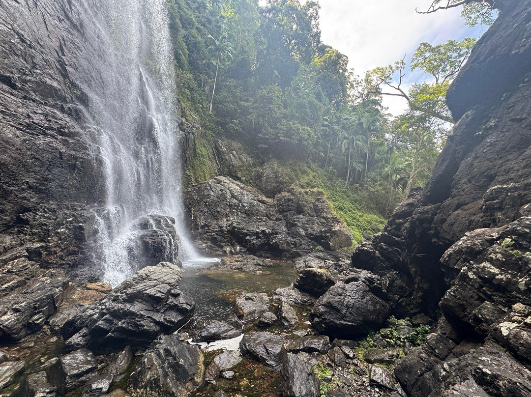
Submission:
[[[402,272],[415,290],[405,311],[435,310],[447,289],[439,260],[467,231],[507,225],[531,202],[531,63],[520,64],[531,57],[530,5],[507,2],[478,41],[448,92],[461,117],[426,188],[353,256],[356,267]]]

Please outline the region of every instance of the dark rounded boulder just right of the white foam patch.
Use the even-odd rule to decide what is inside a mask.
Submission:
[[[239,342],[243,355],[259,361],[271,368],[280,365],[281,353],[285,351],[281,336],[270,332],[251,332]]]

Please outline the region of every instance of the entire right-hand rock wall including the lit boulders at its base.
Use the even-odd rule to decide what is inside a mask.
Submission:
[[[531,1],[501,2],[448,92],[458,122],[429,183],[352,257],[390,281],[393,313],[442,314],[396,367],[415,397],[529,394],[530,37]]]

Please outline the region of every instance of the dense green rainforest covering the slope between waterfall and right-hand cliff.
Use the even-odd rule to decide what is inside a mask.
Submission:
[[[347,57],[321,42],[316,2],[168,4],[182,115],[203,131],[187,182],[214,175],[209,134],[223,134],[260,162],[296,162],[287,166],[295,167],[290,178],[322,189],[355,242],[371,226],[382,228],[410,189],[424,185],[447,130],[434,120],[451,119],[444,96],[472,39],[419,45],[412,66],[436,83],[400,91],[410,111],[391,122],[378,88],[402,76],[405,62],[367,75],[358,95]],[[376,93],[367,93],[369,83]]]

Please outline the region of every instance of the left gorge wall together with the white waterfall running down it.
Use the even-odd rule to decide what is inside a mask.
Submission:
[[[1,264],[134,267],[113,248],[124,246],[137,256],[178,255],[179,157],[190,157],[181,142],[192,127],[179,117],[165,7],[2,3]],[[87,277],[124,273],[107,280],[116,283],[125,267]]]

